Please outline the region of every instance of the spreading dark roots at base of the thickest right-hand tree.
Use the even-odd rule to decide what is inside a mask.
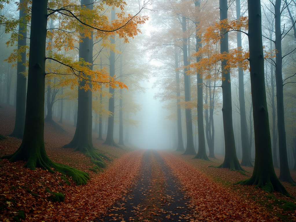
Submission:
[[[278,180],[275,173],[272,173],[272,175],[270,174],[259,175],[259,173],[255,173],[252,175],[251,178],[243,181],[238,181],[234,184],[256,185],[255,188],[261,188],[268,193],[277,191],[286,196],[291,197],[289,192],[287,192],[286,188]]]

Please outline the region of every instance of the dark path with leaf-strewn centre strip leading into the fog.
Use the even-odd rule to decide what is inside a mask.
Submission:
[[[98,221],[188,221],[186,198],[163,158],[147,150],[138,182],[122,200],[109,207]]]

